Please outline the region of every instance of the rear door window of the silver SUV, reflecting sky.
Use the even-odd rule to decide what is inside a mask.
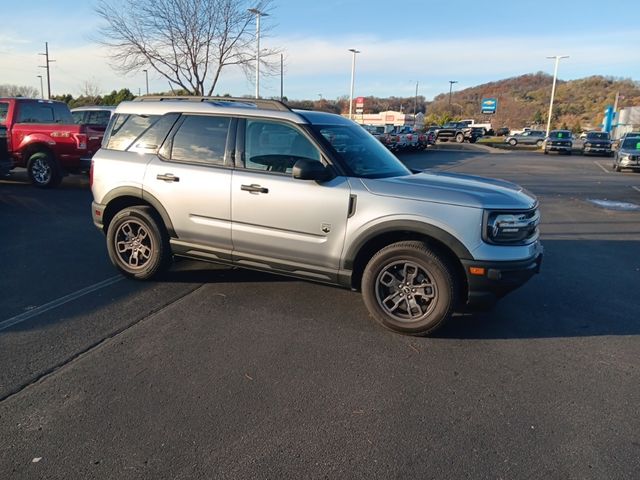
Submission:
[[[189,115],[173,137],[171,160],[224,164],[228,117]]]

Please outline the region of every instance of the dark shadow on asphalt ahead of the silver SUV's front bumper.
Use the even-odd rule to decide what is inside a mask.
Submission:
[[[635,241],[544,241],[542,271],[487,312],[456,314],[436,338],[640,334]]]

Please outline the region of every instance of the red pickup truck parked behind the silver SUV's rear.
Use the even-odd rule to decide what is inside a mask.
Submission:
[[[69,107],[51,100],[0,98],[0,127],[6,130],[6,152],[0,158],[8,157],[10,168],[26,168],[31,182],[41,188],[87,171],[103,136],[74,124]]]

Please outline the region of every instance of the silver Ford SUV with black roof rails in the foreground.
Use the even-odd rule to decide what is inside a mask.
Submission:
[[[361,290],[394,331],[434,331],[539,271],[535,197],[412,172],[355,123],[271,100],[121,103],[93,157],[93,221],[127,276],[173,256]]]

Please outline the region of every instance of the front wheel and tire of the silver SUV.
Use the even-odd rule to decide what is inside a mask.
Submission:
[[[456,305],[456,291],[447,262],[418,241],[383,248],[362,277],[362,295],[371,316],[405,335],[427,335],[442,326]]]

